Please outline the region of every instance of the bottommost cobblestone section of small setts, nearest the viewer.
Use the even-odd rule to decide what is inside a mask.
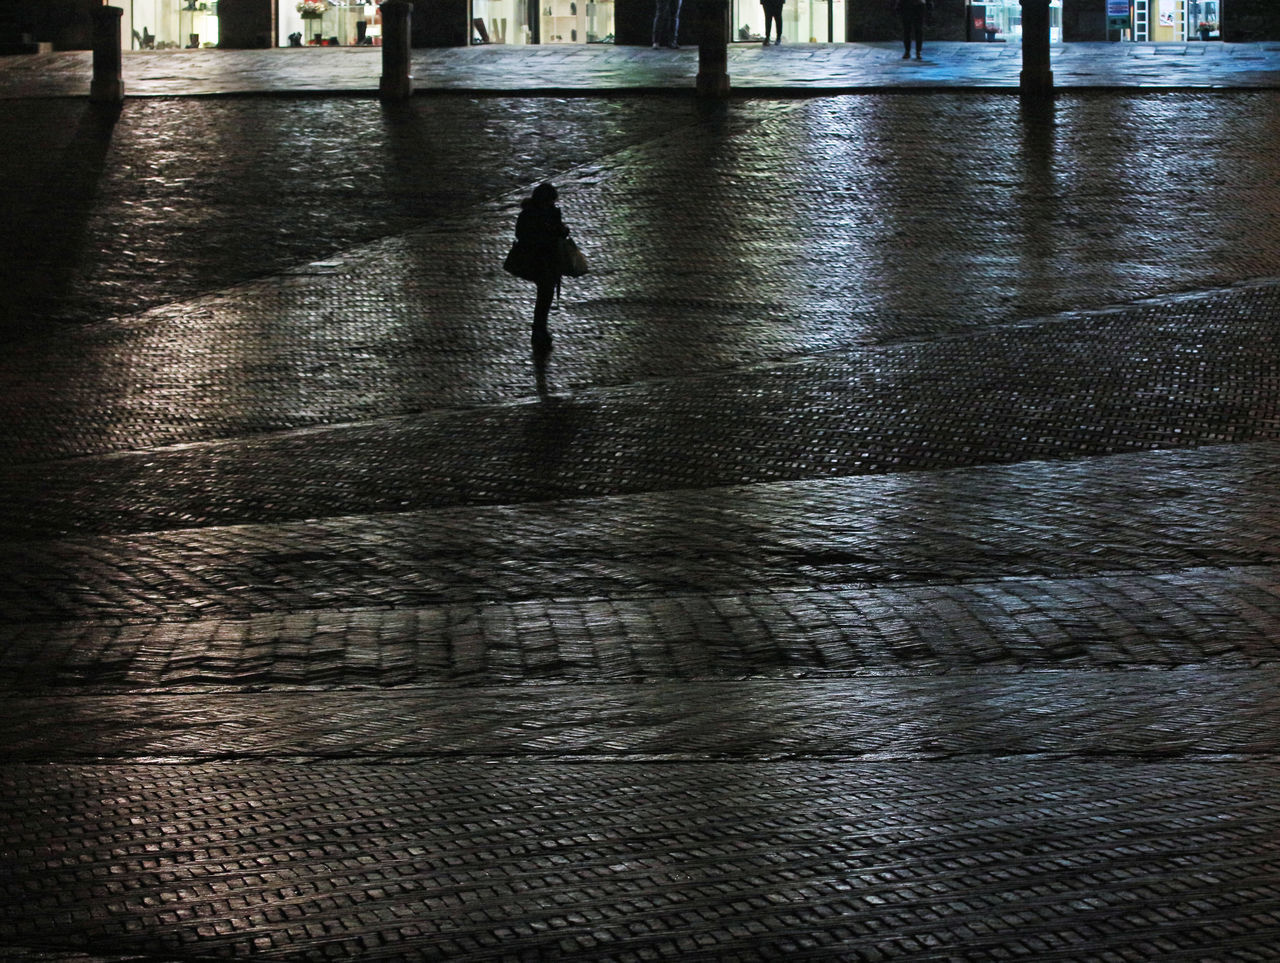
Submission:
[[[1260,960],[1280,926],[1277,785],[1266,762],[6,766],[0,939],[308,960]]]

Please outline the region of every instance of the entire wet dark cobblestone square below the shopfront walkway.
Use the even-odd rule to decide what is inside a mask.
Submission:
[[[1274,92],[0,118],[0,955],[1277,958]]]

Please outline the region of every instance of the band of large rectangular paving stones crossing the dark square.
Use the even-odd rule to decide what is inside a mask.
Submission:
[[[1274,566],[735,595],[0,625],[12,693],[1280,662]]]

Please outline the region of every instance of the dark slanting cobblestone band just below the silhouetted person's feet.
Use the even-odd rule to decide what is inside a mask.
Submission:
[[[1256,320],[1226,321],[1245,312]],[[1274,315],[1280,284],[1254,284],[923,342],[686,371],[540,403],[376,419],[74,466],[14,466],[0,469],[9,508],[0,535],[283,521],[1280,439],[1280,352],[1267,321]],[[667,350],[696,355],[703,337],[699,329],[685,342],[671,332]],[[604,374],[595,361],[612,357],[617,344],[603,336],[591,343],[594,357],[554,359],[557,382],[566,376],[562,368],[584,380]],[[529,376],[522,387],[530,391],[527,357],[476,360],[475,369],[463,361],[460,384],[470,391],[485,380],[476,369],[492,378],[508,362]],[[512,371],[509,384],[518,383]],[[963,410],[954,403],[957,392]],[[216,424],[218,403],[200,409],[206,414],[196,432],[236,429]],[[174,405],[197,409],[189,400]],[[19,417],[10,435],[19,451],[45,447],[64,430],[42,432],[46,417]],[[261,415],[264,423],[273,417]],[[84,429],[82,420],[65,425]],[[136,423],[110,430],[147,438]],[[188,433],[172,423],[154,430],[151,441]],[[246,494],[255,492],[264,494]]]

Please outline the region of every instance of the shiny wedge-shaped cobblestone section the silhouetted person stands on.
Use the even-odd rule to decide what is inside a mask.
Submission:
[[[943,106],[957,119],[964,113]],[[924,109],[901,108],[913,117]],[[599,260],[557,319],[552,389],[943,338],[1149,297],[1153,284],[1178,278],[1203,286],[1274,273],[1270,252],[1280,245],[1267,245],[1270,228],[1254,223],[1249,233],[1231,232],[1252,243],[1217,245],[1206,274],[1199,248],[1216,234],[1204,225],[1221,233],[1240,214],[1171,204],[1155,186],[1124,210],[1092,184],[1039,207],[1011,206],[1010,191],[1032,204],[1042,186],[1055,186],[1061,164],[1084,152],[1096,110],[1074,105],[1061,124],[1073,133],[1044,143],[1016,127],[992,132],[989,150],[1012,164],[1010,183],[959,196],[959,170],[974,159],[952,145],[946,163],[915,183],[911,202],[891,200],[910,197],[914,183],[892,141],[902,118],[865,105],[730,111],[705,122],[704,137],[682,128],[576,169],[566,207]],[[928,128],[922,133],[923,119],[909,120],[902,137],[942,150]],[[1251,179],[1252,168],[1221,169],[1230,172],[1224,195],[1258,198],[1253,206],[1267,210],[1260,192],[1274,188]],[[690,210],[664,200],[681,181],[708,204]],[[883,202],[870,202],[877,197]],[[31,382],[31,403],[13,411],[14,457],[529,398],[539,384],[525,343],[529,295],[497,268],[516,200],[507,195],[444,225],[157,309],[120,329],[78,330],[56,350],[28,347],[9,362],[10,378]],[[1161,250],[1169,245],[1176,250]],[[948,257],[928,254],[942,250]],[[993,269],[997,261],[1004,266]]]

